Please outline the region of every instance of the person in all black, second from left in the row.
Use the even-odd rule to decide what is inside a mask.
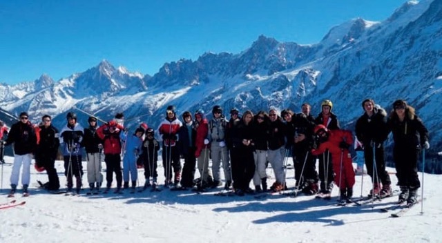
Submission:
[[[40,141],[35,152],[35,162],[43,167],[48,174],[48,183],[44,184],[49,191],[56,191],[60,188],[60,181],[55,168],[58,148],[60,146],[59,133],[57,128],[52,126],[50,115],[41,117],[43,123],[39,126]]]

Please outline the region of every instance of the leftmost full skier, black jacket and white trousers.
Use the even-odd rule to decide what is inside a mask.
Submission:
[[[20,121],[13,124],[6,141],[2,141],[4,146],[14,143],[14,164],[10,177],[11,191],[9,196],[13,197],[17,191],[21,165],[21,184],[23,184],[23,195],[29,195],[28,186],[30,182],[30,162],[32,153],[35,152],[37,136],[32,124],[29,122],[28,113],[20,113]]]

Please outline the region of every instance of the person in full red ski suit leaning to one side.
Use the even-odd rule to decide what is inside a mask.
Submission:
[[[340,200],[350,200],[355,182],[352,156],[349,146],[353,144],[352,132],[349,130],[328,130],[320,124],[314,128],[319,141],[318,148],[312,149],[312,155],[320,155],[329,150],[332,154],[334,183],[340,188]]]

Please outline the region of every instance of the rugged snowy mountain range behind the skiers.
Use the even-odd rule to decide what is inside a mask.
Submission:
[[[195,61],[172,61],[153,77],[102,61],[56,82],[44,75],[0,85],[0,105],[15,114],[28,110],[34,122],[48,113],[59,126],[77,106],[104,120],[124,112],[129,126],[143,121],[156,127],[169,104],[181,114],[197,108],[209,113],[215,104],[224,110],[300,110],[309,102],[317,114],[320,101],[332,99],[334,113],[351,129],[363,99],[390,110],[403,98],[430,130],[432,148],[441,150],[442,124],[434,112],[442,103],[441,35],[442,0],[408,1],[385,21],[352,19],[311,45],[260,36],[238,54],[206,52]]]

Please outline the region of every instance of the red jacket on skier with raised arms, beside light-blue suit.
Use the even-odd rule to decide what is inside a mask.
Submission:
[[[115,127],[115,131],[111,133],[109,128]],[[122,142],[119,134],[122,132],[123,126],[114,121],[104,124],[97,129],[97,135],[104,141],[103,150],[106,155],[117,155],[122,152]]]

